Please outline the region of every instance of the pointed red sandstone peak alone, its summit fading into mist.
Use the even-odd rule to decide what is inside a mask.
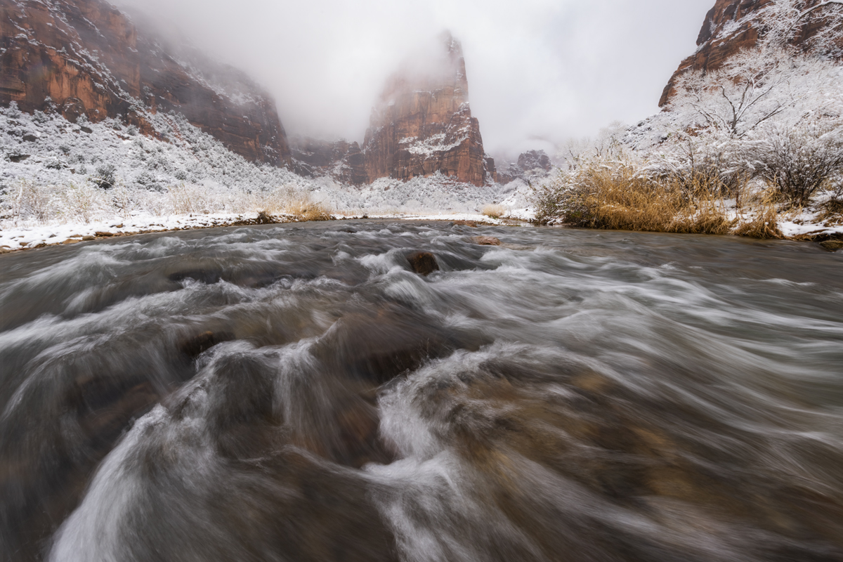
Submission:
[[[462,46],[449,34],[442,45],[432,67],[395,74],[384,88],[363,142],[368,181],[436,172],[474,185],[495,179],[471,116]]]

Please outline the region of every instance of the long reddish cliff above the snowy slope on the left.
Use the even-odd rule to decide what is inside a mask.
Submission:
[[[176,60],[102,0],[0,0],[0,104],[12,101],[72,121],[119,118],[147,135],[145,112],[175,110],[244,158],[290,161],[275,104],[249,78]]]

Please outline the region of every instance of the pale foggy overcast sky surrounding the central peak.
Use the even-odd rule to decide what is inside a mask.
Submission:
[[[115,0],[112,0],[115,1]],[[593,136],[658,111],[714,0],[116,0],[274,94],[288,134],[362,141],[385,78],[450,29],[486,151]]]

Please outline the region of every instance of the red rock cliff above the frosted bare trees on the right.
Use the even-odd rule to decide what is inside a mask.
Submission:
[[[802,8],[810,8],[820,1],[808,0]],[[768,8],[771,3],[772,0],[717,0],[706,14],[706,20],[696,40],[696,52],[679,64],[679,68],[664,88],[659,106],[667,104],[675,94],[676,80],[684,72],[717,70],[731,56],[756,45],[763,29],[759,29],[759,19],[754,16]],[[808,45],[808,40],[829,24],[840,22],[831,16],[824,17],[823,11],[817,10],[810,18],[804,19],[793,43],[797,46]],[[837,46],[843,49],[843,43]]]

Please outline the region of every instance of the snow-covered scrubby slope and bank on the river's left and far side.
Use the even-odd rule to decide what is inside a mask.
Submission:
[[[520,180],[478,187],[433,174],[355,187],[305,179],[250,163],[181,115],[145,116],[166,141],[114,119],[74,124],[14,104],[0,108],[0,131],[7,132],[0,135],[0,250],[71,244],[96,233],[222,226],[260,209],[278,216],[290,201],[320,203],[338,218],[490,222],[481,211],[491,203],[529,218],[529,186]],[[99,189],[109,174],[114,187]]]

